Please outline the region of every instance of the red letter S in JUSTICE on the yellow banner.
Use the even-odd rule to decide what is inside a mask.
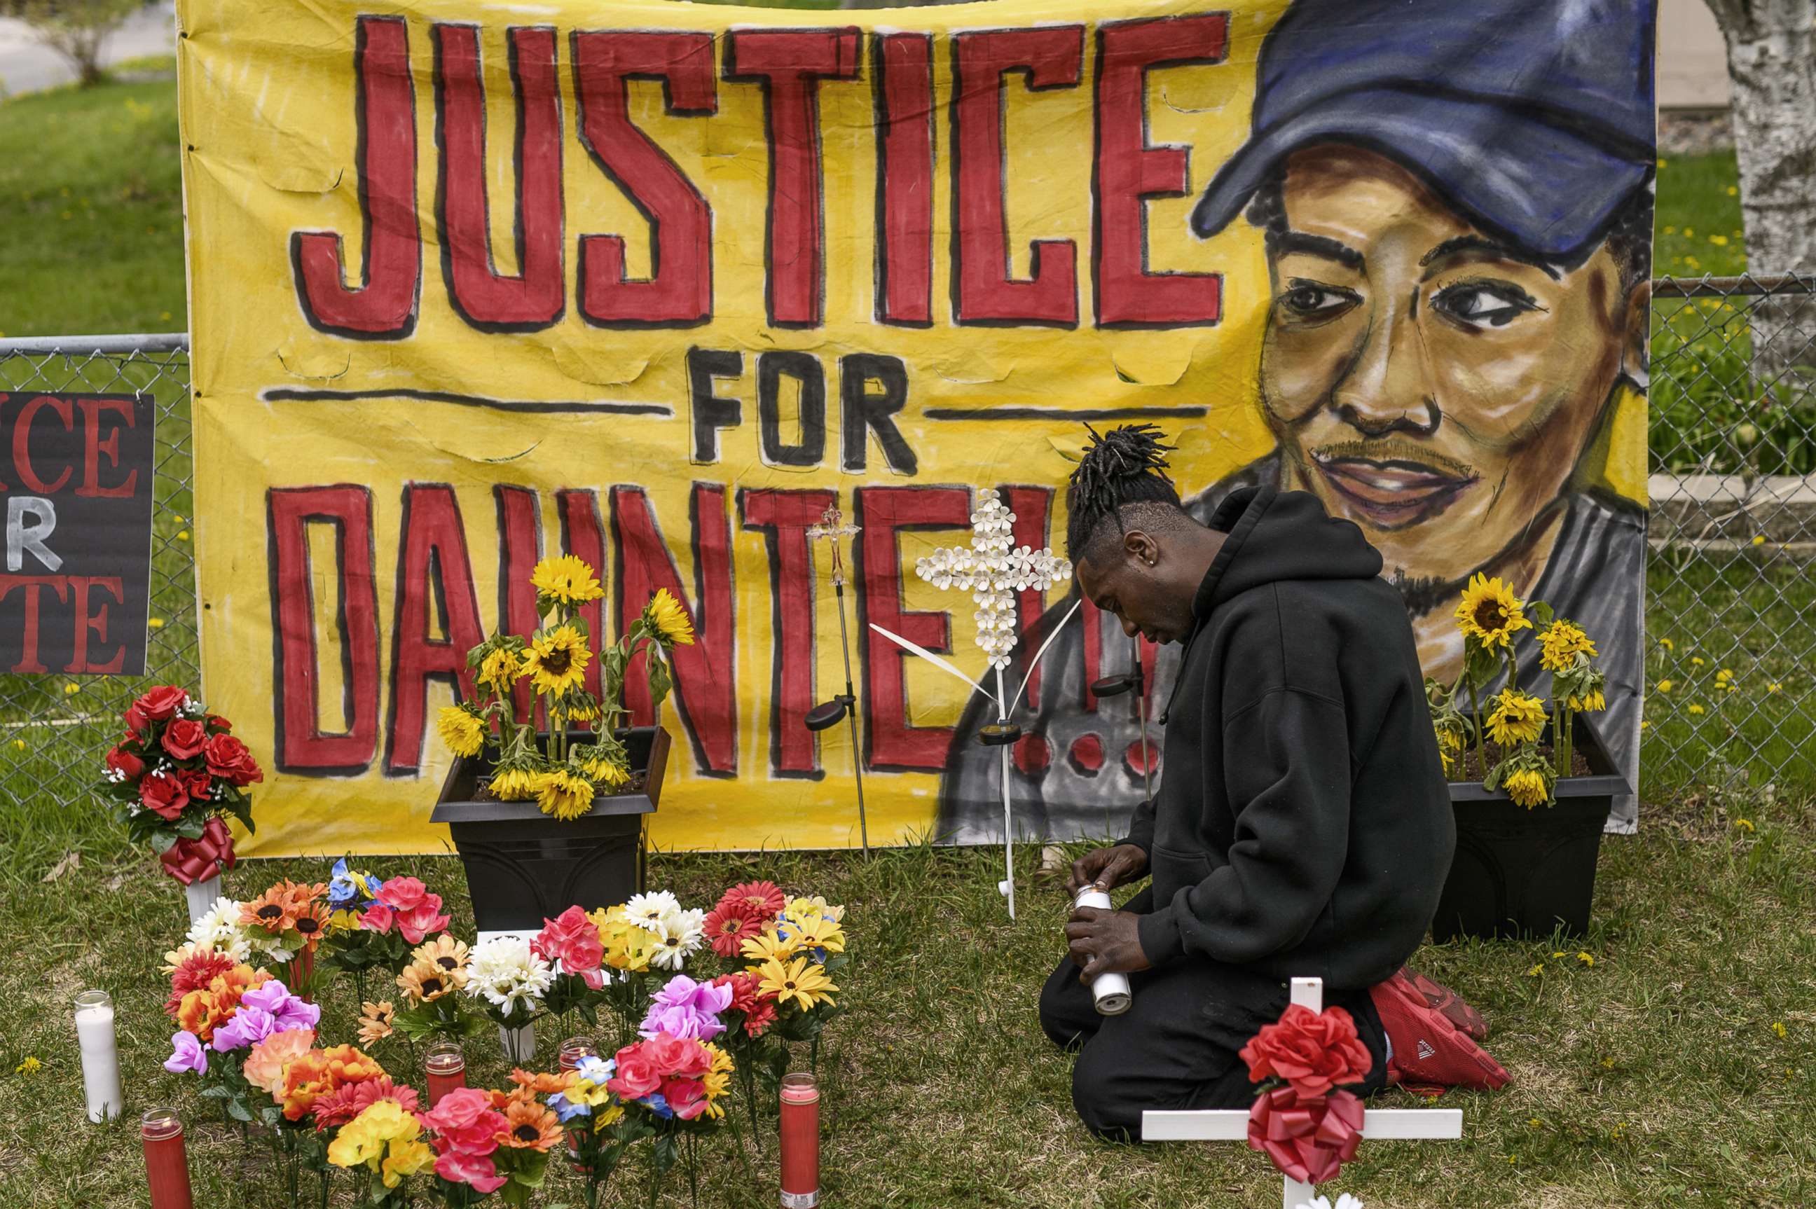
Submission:
[[[574,34],[587,154],[650,225],[650,276],[625,272],[625,238],[579,238],[579,312],[596,327],[696,327],[712,318],[712,211],[694,182],[630,122],[630,82],[661,80],[670,114],[719,109],[712,34]]]

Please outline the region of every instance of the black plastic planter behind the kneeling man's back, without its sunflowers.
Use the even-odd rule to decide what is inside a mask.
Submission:
[[[1614,797],[1631,786],[1580,717],[1574,732],[1589,775],[1558,781],[1556,806],[1527,810],[1478,781],[1451,782],[1456,857],[1431,920],[1438,944],[1549,937],[1560,926],[1571,937],[1589,929],[1602,826]]]

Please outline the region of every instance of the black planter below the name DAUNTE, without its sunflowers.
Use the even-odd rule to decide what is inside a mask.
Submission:
[[[536,802],[474,801],[492,761],[454,761],[430,821],[449,824],[479,931],[538,931],[570,906],[590,911],[643,891],[645,826],[663,793],[668,732],[639,726],[623,732],[623,741],[632,772],[643,773],[641,788],[601,793],[592,810],[567,821],[550,819]]]

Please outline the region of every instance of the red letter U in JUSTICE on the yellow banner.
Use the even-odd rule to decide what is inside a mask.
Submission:
[[[492,260],[485,189],[485,84],[478,25],[434,25],[436,143],[441,180],[441,276],[454,310],[481,332],[534,332],[561,318],[567,276],[561,258],[561,89],[556,31],[510,29],[510,84],[518,98],[518,272]]]

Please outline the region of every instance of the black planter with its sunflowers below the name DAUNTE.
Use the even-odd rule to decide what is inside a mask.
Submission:
[[[538,563],[530,583],[541,626],[467,652],[479,695],[438,719],[456,759],[430,817],[449,824],[481,931],[538,929],[570,904],[607,906],[643,890],[668,732],[625,726],[625,675],[643,655],[659,710],[672,684],[668,654],[694,643],[679,601],[657,590],[594,655],[581,615],[605,595],[594,570],[559,555]],[[587,688],[594,659],[597,693]]]

